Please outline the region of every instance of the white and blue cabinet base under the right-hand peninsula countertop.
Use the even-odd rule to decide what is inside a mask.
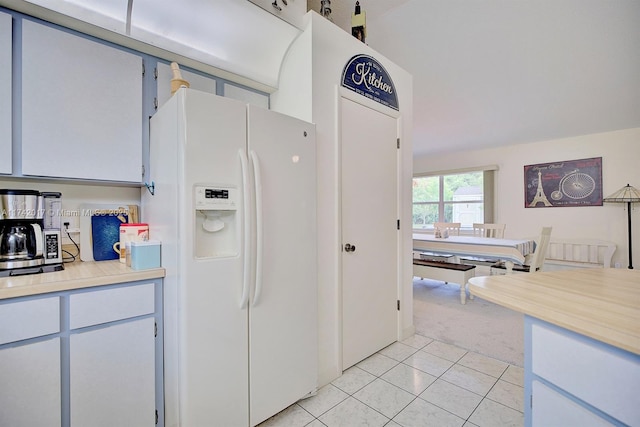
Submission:
[[[526,426],[640,426],[639,355],[529,316],[525,336]]]

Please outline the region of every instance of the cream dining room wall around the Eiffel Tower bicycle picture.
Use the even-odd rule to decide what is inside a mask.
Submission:
[[[502,148],[431,155],[414,159],[414,173],[496,164],[495,222],[506,223],[505,236],[535,236],[545,225],[552,237],[595,238],[618,245],[613,262],[628,265],[626,205],[524,207],[524,166],[602,157],[604,197],[626,184],[640,188],[640,128],[517,144]],[[640,204],[632,208],[633,264],[640,268]]]

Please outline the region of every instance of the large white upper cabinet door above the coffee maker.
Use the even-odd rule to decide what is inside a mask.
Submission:
[[[23,20],[22,174],[140,183],[142,58]]]

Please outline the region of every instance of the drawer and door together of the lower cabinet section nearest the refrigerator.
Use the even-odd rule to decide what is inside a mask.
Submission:
[[[70,295],[71,427],[155,426],[155,287]]]

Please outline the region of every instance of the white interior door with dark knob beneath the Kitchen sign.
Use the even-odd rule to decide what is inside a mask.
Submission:
[[[341,115],[342,368],[347,369],[397,337],[398,133],[396,118],[345,98]]]

